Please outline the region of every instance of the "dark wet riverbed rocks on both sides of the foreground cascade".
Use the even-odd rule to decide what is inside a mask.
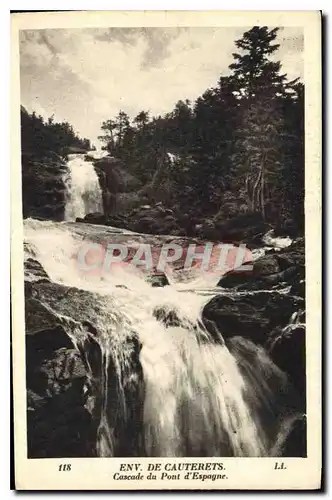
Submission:
[[[43,223],[36,222],[32,226],[39,228],[38,224],[44,227]],[[45,224],[49,229],[54,227],[52,222]],[[102,242],[112,235],[114,241],[130,245],[150,242],[156,246],[174,239],[172,236],[129,233],[88,222],[60,223],[57,227],[60,231],[60,252],[65,245],[66,228],[75,238],[88,238],[92,242]],[[36,234],[39,232],[40,229]],[[184,244],[186,238],[179,236],[178,241]],[[60,258],[56,248],[52,252],[53,259]],[[103,453],[101,450],[104,448],[110,453],[110,441],[117,456],[144,455],[142,401],[145,384],[135,324],[126,323],[126,314],[118,309],[116,303],[112,307],[112,299],[105,297],[104,289],[99,294],[59,280],[55,282],[45,269],[43,259],[36,254],[33,239],[26,243],[25,281],[29,456],[96,456]],[[152,284],[166,286],[172,293],[173,286],[165,276]],[[131,301],[133,297],[137,297],[137,311],[140,310],[139,294],[131,290],[130,280],[114,286],[114,290],[119,290],[116,293],[122,294],[123,311],[126,310],[125,301]],[[147,282],[144,286],[150,285]],[[126,295],[127,292],[132,295]],[[180,316],[175,304],[168,308],[162,302],[159,306],[151,306],[151,315],[153,313],[157,322],[166,327],[166,332],[170,328],[170,333],[179,325],[181,328],[185,325],[189,330],[198,328],[203,331],[202,327],[206,328],[214,342],[225,342],[231,352],[240,355],[245,348],[247,356],[251,350],[256,364],[262,362],[260,352],[268,353],[287,377],[294,406],[295,417],[283,442],[282,453],[284,456],[304,456],[303,239],[284,249],[266,248],[265,254],[254,261],[251,274],[234,269],[216,280],[211,294],[211,300],[208,297],[205,300],[201,317],[195,319],[194,316],[192,323]],[[196,323],[197,320],[199,323]],[[104,340],[101,341],[105,336],[105,325],[110,338],[116,338],[119,325],[128,332],[124,342],[130,352],[126,361],[130,369],[120,375],[116,360],[105,357]],[[206,342],[204,338],[202,341]],[[248,341],[249,347],[243,347],[243,342]],[[105,380],[107,421],[114,429],[112,438],[101,425],[100,417],[103,405],[100,388]],[[125,419],[123,413],[116,411],[121,405],[126,408]],[[99,441],[96,440],[97,435],[101,436]]]

